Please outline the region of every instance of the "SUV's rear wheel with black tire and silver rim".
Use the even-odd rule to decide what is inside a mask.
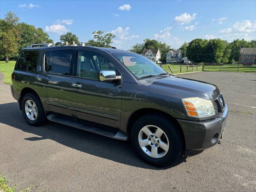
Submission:
[[[46,122],[44,108],[38,96],[34,93],[27,93],[22,98],[22,114],[28,124],[40,126]]]

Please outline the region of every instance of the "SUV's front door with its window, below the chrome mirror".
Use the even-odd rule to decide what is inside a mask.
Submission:
[[[78,77],[71,77],[71,84],[73,84],[70,88],[71,115],[84,120],[119,127],[122,96],[121,81],[99,81],[98,73],[100,70],[116,70],[116,68],[106,58],[97,53],[79,52]],[[120,72],[116,70],[116,73]]]

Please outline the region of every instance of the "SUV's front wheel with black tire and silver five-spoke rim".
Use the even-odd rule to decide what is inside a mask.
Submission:
[[[132,126],[132,146],[148,164],[174,165],[182,156],[182,137],[178,128],[164,116],[142,116]]]

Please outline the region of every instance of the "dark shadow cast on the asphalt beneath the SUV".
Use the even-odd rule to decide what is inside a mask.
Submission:
[[[170,166],[157,168],[143,162],[137,154],[135,154],[129,141],[115,140],[50,121],[44,126],[30,126],[24,120],[17,102],[0,104],[0,122],[24,132],[37,135],[30,138],[24,138],[31,142],[50,139],[81,152],[130,166],[153,170],[171,168]],[[183,162],[183,160],[177,162],[173,166],[176,166],[181,162]]]

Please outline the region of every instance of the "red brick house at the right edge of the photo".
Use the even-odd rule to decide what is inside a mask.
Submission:
[[[239,63],[256,64],[256,48],[242,48]]]

